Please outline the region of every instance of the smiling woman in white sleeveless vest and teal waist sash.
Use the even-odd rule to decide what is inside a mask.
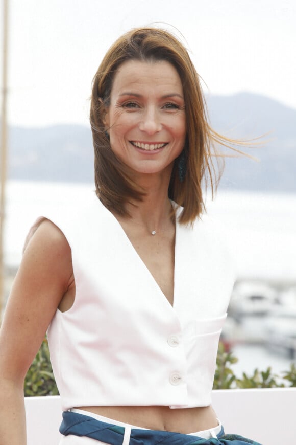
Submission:
[[[234,277],[202,185],[213,142],[231,141],[208,125],[182,44],[154,28],[120,37],[90,118],[96,196],[75,218],[43,213],[11,291],[1,444],[25,442],[23,379],[47,328],[61,445],[255,443],[224,436],[210,405]]]

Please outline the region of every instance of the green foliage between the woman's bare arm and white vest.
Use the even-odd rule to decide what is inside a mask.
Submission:
[[[59,391],[50,362],[50,352],[45,338],[24,380],[25,396],[58,395]]]

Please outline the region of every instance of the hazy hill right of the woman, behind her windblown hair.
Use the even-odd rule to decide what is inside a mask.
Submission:
[[[262,147],[246,150],[259,158],[227,159],[224,187],[296,192],[296,110],[272,99],[240,93],[208,100],[212,126],[229,137],[266,135]]]

